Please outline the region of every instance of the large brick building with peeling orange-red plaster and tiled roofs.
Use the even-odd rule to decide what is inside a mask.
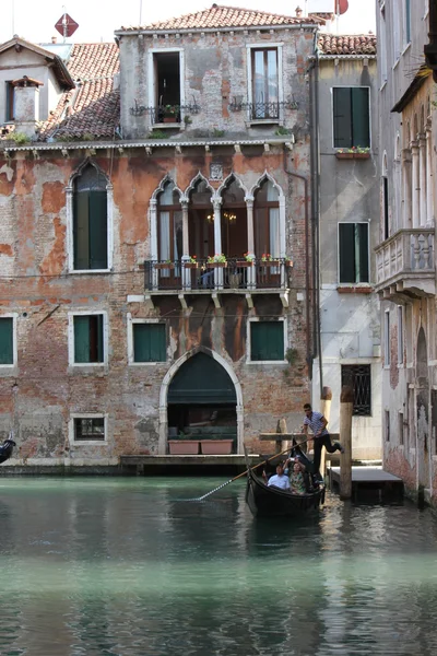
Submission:
[[[12,465],[257,445],[310,398],[317,16],[213,5],[0,48],[0,430]],[[206,436],[208,436],[206,435]]]

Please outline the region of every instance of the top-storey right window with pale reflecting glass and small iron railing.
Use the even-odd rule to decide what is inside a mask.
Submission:
[[[253,48],[251,118],[279,118],[277,49]]]

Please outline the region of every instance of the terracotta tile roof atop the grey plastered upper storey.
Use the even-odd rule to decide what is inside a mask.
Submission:
[[[273,14],[265,11],[241,9],[238,7],[225,7],[213,4],[210,9],[196,13],[185,14],[167,21],[152,23],[151,25],[137,27],[121,27],[120,31],[138,30],[222,30],[225,27],[256,27],[265,25],[300,25],[320,24],[322,20],[317,17],[296,17],[283,14]]]

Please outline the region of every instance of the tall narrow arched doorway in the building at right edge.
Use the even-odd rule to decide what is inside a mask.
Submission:
[[[423,328],[417,336],[416,351],[416,458],[417,483],[420,488],[429,488],[429,380],[426,337]]]

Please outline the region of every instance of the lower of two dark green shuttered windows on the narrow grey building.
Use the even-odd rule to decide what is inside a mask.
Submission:
[[[368,223],[339,223],[340,282],[369,282]]]

